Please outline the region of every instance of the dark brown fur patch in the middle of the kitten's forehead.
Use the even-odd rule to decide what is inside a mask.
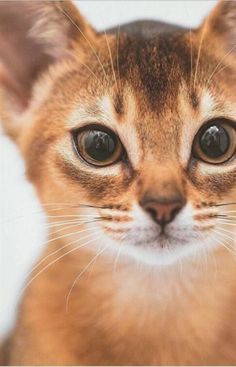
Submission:
[[[161,113],[171,107],[183,81],[189,82],[191,57],[184,33],[161,33],[149,39],[124,36],[119,76],[137,91],[140,104]]]

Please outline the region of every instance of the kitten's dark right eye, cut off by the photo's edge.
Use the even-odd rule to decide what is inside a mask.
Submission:
[[[204,125],[195,137],[193,154],[212,164],[225,163],[236,153],[236,130],[225,119]]]

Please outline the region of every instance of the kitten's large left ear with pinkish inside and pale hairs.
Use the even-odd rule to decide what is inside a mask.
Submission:
[[[0,1],[0,90],[24,109],[40,74],[95,35],[71,1]]]

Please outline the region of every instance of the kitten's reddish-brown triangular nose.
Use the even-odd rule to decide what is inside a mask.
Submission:
[[[183,200],[145,200],[142,207],[162,228],[172,222],[184,206]]]

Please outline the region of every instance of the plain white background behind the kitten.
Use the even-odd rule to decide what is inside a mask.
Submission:
[[[159,19],[187,27],[200,24],[216,1],[77,1],[99,30],[135,19]],[[14,25],[12,25],[14,31]],[[20,290],[44,246],[45,218],[24,177],[16,147],[0,136],[0,335],[14,322]]]

